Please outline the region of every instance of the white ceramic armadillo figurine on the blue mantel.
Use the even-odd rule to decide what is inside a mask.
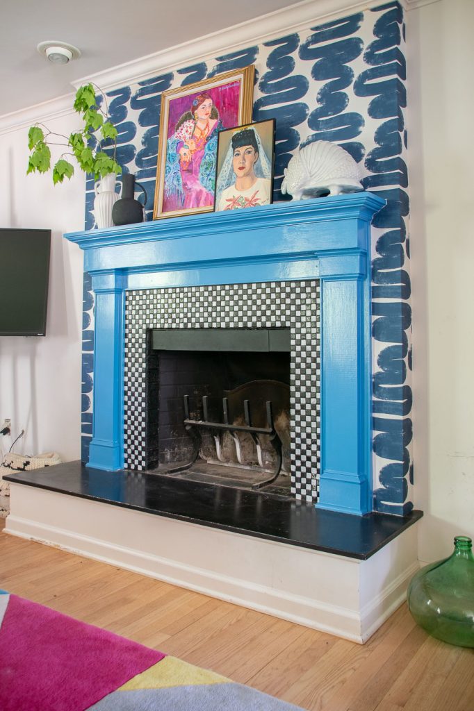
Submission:
[[[303,146],[285,169],[281,186],[293,200],[306,200],[364,190],[359,166],[352,156],[331,141]]]

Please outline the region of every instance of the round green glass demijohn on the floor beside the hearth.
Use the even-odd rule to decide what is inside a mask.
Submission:
[[[472,547],[470,538],[456,536],[453,554],[421,568],[408,590],[415,621],[433,637],[460,647],[474,647]]]

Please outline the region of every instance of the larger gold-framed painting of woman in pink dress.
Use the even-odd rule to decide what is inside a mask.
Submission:
[[[218,134],[252,119],[253,65],[162,93],[155,220],[214,208]]]

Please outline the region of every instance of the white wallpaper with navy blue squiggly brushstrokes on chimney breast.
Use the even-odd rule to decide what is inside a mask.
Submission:
[[[413,508],[411,457],[411,285],[406,169],[404,13],[398,2],[291,33],[164,73],[107,94],[118,128],[117,161],[148,193],[152,219],[163,91],[249,64],[256,66],[253,119],[276,119],[274,201],[299,146],[335,141],[359,162],[364,188],[387,201],[374,218],[372,247],[374,509]],[[94,226],[93,179],[85,228]],[[322,198],[324,199],[324,198]],[[84,279],[83,460],[92,436],[93,295]]]

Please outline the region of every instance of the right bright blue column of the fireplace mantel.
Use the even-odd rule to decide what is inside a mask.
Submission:
[[[345,278],[322,279],[319,508],[364,515],[372,510],[369,263],[342,258]],[[359,264],[357,264],[359,262]],[[324,264],[324,263],[323,263]],[[349,277],[352,272],[352,278]]]

